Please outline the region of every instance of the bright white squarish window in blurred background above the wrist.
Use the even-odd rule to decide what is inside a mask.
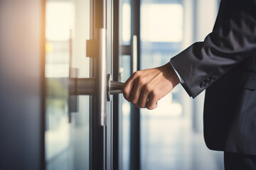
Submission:
[[[141,10],[143,42],[181,42],[183,37],[181,4],[142,4]]]

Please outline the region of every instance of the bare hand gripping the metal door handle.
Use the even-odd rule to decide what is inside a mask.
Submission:
[[[169,94],[179,82],[170,63],[137,71],[124,84],[124,98],[139,108],[154,109],[156,102]]]

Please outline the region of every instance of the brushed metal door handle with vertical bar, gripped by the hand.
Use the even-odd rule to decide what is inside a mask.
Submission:
[[[97,30],[98,38],[95,40],[95,44],[98,44],[98,52],[91,52],[95,56],[96,72],[94,78],[78,78],[76,74],[73,77],[70,74],[69,78],[69,106],[72,103],[77,103],[73,101],[75,98],[71,96],[78,95],[93,95],[97,99],[97,117],[99,119],[99,124],[104,126],[106,120],[106,102],[111,101],[112,94],[122,93],[122,88],[124,83],[118,81],[112,81],[110,74],[107,74],[107,45],[106,45],[106,30],[105,28],[100,28]],[[70,58],[72,55],[70,55]],[[71,61],[71,60],[70,60]],[[78,72],[78,70],[76,70]],[[74,98],[74,99],[73,99]],[[73,99],[73,100],[72,100]],[[107,101],[106,101],[107,99]],[[77,98],[76,98],[77,100]],[[73,104],[74,105],[74,104]],[[70,115],[70,114],[69,114]],[[71,117],[70,117],[71,118]]]

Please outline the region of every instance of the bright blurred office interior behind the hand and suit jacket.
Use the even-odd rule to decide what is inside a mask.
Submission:
[[[129,41],[129,0],[122,1],[123,41]],[[219,1],[142,0],[141,69],[169,62],[213,29]],[[124,57],[123,65],[127,65]],[[130,76],[124,75],[124,81]],[[204,93],[188,97],[179,84],[156,109],[140,109],[141,169],[223,169],[223,153],[210,151],[203,140]],[[122,169],[129,169],[129,103],[122,99]]]

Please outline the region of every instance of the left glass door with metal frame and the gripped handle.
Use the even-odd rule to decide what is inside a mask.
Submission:
[[[46,169],[112,169],[112,1],[46,1]]]

